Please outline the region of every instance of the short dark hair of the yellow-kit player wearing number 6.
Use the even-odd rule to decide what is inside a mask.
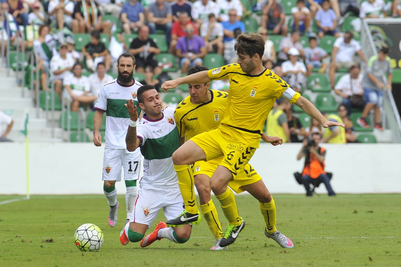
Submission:
[[[237,42],[234,44],[234,49],[237,53],[249,55],[249,57],[258,54],[260,59],[262,59],[265,52],[265,40],[260,34],[255,32],[239,34]]]

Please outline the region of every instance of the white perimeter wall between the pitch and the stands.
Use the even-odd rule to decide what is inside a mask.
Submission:
[[[401,193],[401,144],[324,146],[335,192]],[[256,150],[251,164],[271,193],[304,193],[292,175],[302,170],[303,160],[296,160],[300,148],[261,144]],[[25,143],[0,143],[0,194],[26,193],[25,149]],[[103,150],[91,143],[31,143],[30,194],[102,194]],[[119,194],[124,188],[124,182],[117,183]],[[317,192],[326,192],[323,184]]]

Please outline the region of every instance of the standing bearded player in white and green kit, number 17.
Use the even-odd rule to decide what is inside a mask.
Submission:
[[[128,223],[134,202],[137,196],[136,180],[139,178],[141,166],[141,152],[138,148],[133,152],[126,149],[125,136],[127,125],[130,121],[124,103],[126,99],[133,99],[136,105],[138,100],[136,92],[142,86],[133,79],[135,70],[135,57],[125,52],[117,59],[117,79],[102,86],[95,104],[95,117],[93,119],[93,143],[101,146],[101,135],[99,129],[102,125],[103,113],[106,113],[106,144],[103,157],[103,192],[110,206],[109,226],[117,224],[117,190],[115,182],[121,180],[121,169],[124,168],[124,180],[126,184],[126,207]],[[138,116],[141,109],[138,108]]]

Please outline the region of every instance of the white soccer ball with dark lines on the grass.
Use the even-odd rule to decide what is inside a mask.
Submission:
[[[74,242],[80,251],[98,251],[103,244],[103,232],[96,225],[85,223],[75,231]]]

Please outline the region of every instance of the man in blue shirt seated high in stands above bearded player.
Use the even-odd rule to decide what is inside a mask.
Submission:
[[[144,7],[138,0],[127,1],[121,10],[121,22],[124,32],[131,34],[131,30],[137,31],[145,23]]]

